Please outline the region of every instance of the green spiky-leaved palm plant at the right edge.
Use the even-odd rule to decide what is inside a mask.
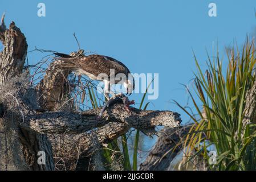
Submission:
[[[239,51],[235,46],[227,49],[229,64],[224,71],[220,55],[211,59],[203,72],[196,56],[197,73],[194,73],[194,91],[188,90],[196,115],[184,110],[193,120],[193,126],[185,136],[185,156],[188,160],[203,155],[209,159],[209,146],[214,146],[217,164],[209,167],[219,170],[256,169],[255,121],[243,125],[246,93],[255,81],[254,42],[248,39]],[[196,97],[199,102],[196,102]]]

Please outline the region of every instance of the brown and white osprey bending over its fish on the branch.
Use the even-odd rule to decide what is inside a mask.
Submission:
[[[60,61],[62,68],[72,69],[79,75],[86,75],[92,80],[104,81],[104,95],[109,100],[109,93],[115,98],[117,95],[111,91],[111,85],[123,84],[127,90],[127,94],[131,95],[135,88],[134,78],[130,74],[129,69],[120,61],[109,56],[103,55],[84,55],[83,50],[73,55],[66,55],[63,53],[55,53],[60,57],[54,57],[55,60]],[[114,71],[112,72],[111,71]],[[115,79],[116,75],[123,73],[125,77]],[[100,75],[107,77],[101,77]],[[113,76],[114,80],[111,80]]]

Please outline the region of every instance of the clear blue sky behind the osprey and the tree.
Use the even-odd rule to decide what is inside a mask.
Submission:
[[[37,16],[37,5],[46,5],[46,17]],[[217,17],[208,16],[208,5],[217,5]],[[242,44],[254,32],[255,0],[245,1],[0,1],[34,47],[69,53],[78,46],[114,57],[133,73],[159,73],[159,98],[149,109],[173,110],[188,117],[169,101],[185,105],[188,95],[180,84],[189,84],[196,71],[192,48],[202,66],[206,49],[213,55],[217,40],[221,55],[234,39]],[[30,64],[42,57],[30,53]],[[141,95],[133,94],[137,102]],[[138,106],[138,105],[137,105]]]

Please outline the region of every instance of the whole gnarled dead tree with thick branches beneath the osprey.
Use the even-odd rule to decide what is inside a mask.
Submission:
[[[100,119],[100,109],[76,112],[68,99],[70,71],[52,62],[40,83],[31,86],[31,76],[23,68],[25,35],[14,22],[6,28],[2,18],[0,39],[4,46],[0,53],[0,170],[54,170],[52,135],[62,135],[66,148],[74,140],[79,142],[81,156],[90,156],[131,127],[151,135],[155,126],[180,126],[178,113],[139,109],[128,112],[118,103]],[[39,151],[46,154],[45,164],[38,163]]]

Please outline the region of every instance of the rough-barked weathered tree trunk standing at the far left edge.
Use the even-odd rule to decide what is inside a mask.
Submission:
[[[15,77],[22,74],[26,38],[14,22],[9,29],[3,29],[3,22],[1,27],[0,37],[5,48],[0,57],[0,170],[52,170],[51,144],[46,135],[19,127],[21,113],[17,114],[16,109],[20,107],[17,94],[22,80]],[[46,165],[37,163],[38,151],[46,152]]]

